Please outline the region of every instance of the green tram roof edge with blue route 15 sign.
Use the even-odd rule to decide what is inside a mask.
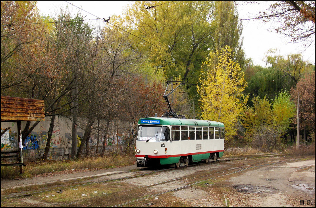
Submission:
[[[167,118],[167,117],[141,118],[138,120],[138,124],[224,127],[223,123],[216,122],[216,121],[186,119],[186,118]]]

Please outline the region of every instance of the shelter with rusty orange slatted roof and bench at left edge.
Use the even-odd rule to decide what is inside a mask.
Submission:
[[[1,166],[20,166],[22,173],[23,163],[23,144],[21,135],[21,121],[45,121],[44,100],[16,98],[1,95],[1,122],[17,123],[17,142],[16,151],[3,151],[5,134],[8,134],[10,127],[1,129]],[[1,125],[2,126],[2,125]],[[2,158],[17,158],[17,163],[3,163]]]

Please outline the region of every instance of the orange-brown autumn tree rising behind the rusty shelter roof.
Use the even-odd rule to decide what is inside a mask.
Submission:
[[[44,99],[45,115],[58,99],[51,103],[46,98],[55,92],[53,80],[60,71],[53,67],[55,51],[47,41],[50,32],[45,27],[35,6],[36,2],[1,2],[1,85],[2,94],[15,97]],[[46,36],[47,35],[47,36]],[[57,110],[57,109],[55,109]],[[22,142],[39,123],[27,121],[22,131]]]

